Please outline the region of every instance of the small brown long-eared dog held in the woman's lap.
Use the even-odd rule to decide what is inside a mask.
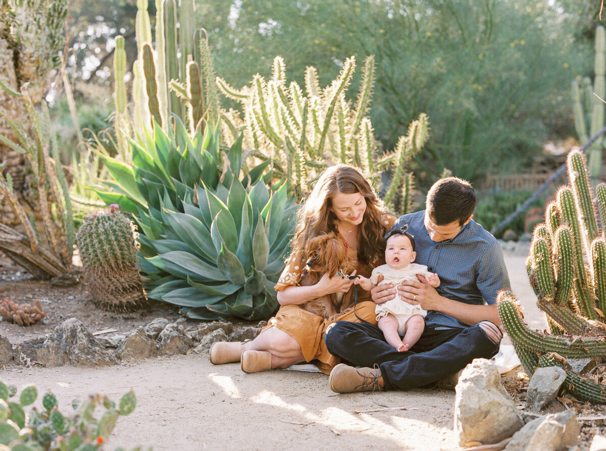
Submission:
[[[353,271],[353,263],[348,256],[347,248],[339,241],[334,232],[318,235],[308,240],[304,257],[307,260],[301,277],[302,286],[315,285],[326,273],[330,277],[335,277],[338,271],[342,270],[346,275]],[[307,301],[301,305],[301,308],[333,320],[351,310],[348,308],[350,297],[344,303],[344,294],[327,294]]]

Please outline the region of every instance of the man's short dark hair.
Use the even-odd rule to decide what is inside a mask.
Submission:
[[[469,182],[458,177],[447,177],[431,186],[425,206],[429,219],[435,225],[447,225],[454,221],[464,225],[476,208],[476,192]]]

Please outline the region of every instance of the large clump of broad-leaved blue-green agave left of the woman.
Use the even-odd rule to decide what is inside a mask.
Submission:
[[[174,132],[156,126],[131,141],[132,167],[105,159],[113,191],[101,197],[138,224],[148,298],[192,318],[265,318],[278,306],[295,202],[285,183],[265,185],[269,162],[241,171],[241,140],[221,149],[218,130],[190,137],[173,117]]]

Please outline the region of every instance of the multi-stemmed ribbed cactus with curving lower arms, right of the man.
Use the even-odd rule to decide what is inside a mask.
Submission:
[[[539,366],[560,366],[567,371],[571,393],[605,404],[606,387],[571,366],[577,359],[582,367],[595,366],[606,357],[606,241],[592,203],[585,157],[578,150],[568,154],[568,178],[570,185],[562,186],[557,200],[547,205],[545,223],[534,229],[526,263],[537,305],[547,315],[548,333],[528,328],[509,291],[499,294],[498,310],[528,375]],[[603,224],[606,184],[596,186],[596,194]]]

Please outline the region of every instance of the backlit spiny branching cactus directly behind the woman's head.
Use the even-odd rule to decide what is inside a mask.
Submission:
[[[366,116],[375,79],[374,59],[369,56],[364,62],[358,99],[351,107],[345,92],[355,67],[352,56],[345,61],[339,77],[324,89],[319,87],[315,68],[308,67],[307,95],[296,82],[287,85],[284,60],[279,56],[274,59],[268,81],[255,75],[250,85],[236,90],[218,77],[222,93],[242,105],[242,113],[221,111],[224,139],[234,142],[234,131],[244,131],[244,157],[273,160],[276,170],[293,180],[298,196],[307,194],[310,182],[335,163],[359,166],[378,184],[381,172],[391,166],[391,182],[380,187],[385,191],[384,199],[391,202],[401,193],[408,206],[412,184],[408,163],[427,140],[427,116],[421,114],[410,124],[408,134],[400,137],[395,150],[379,156],[373,127]],[[394,208],[400,211],[400,206]]]

